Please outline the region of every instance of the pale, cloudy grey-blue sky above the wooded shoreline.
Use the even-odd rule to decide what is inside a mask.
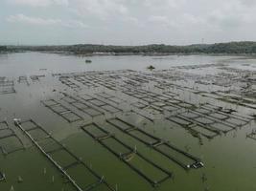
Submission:
[[[256,0],[0,0],[0,44],[256,41]]]

